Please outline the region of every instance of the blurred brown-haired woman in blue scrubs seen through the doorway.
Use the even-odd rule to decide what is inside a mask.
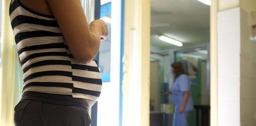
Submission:
[[[176,80],[172,86],[172,91],[165,94],[172,95],[172,102],[176,105],[174,126],[188,126],[189,111],[194,109],[191,97],[191,80],[185,74],[181,62],[174,62],[171,66],[172,74]]]

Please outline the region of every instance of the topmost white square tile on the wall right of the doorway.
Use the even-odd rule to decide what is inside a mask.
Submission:
[[[240,8],[218,12],[218,33],[240,31]]]

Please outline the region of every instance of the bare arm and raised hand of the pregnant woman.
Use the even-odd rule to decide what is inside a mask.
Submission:
[[[87,23],[80,0],[47,0],[70,52],[81,63],[90,62],[97,54],[107,26],[101,20]]]

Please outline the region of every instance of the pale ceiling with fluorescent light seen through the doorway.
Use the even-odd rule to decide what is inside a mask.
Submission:
[[[177,47],[158,39],[159,34],[184,46],[209,42],[209,9],[197,0],[151,0],[151,45]]]

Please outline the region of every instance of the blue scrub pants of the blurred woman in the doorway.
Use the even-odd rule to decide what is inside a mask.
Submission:
[[[180,114],[180,107],[176,107],[176,112],[175,112],[175,122],[174,126],[188,126],[188,117],[189,117],[189,112],[183,112]]]

